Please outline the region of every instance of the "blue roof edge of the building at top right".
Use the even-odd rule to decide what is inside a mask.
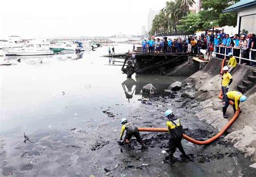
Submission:
[[[255,6],[256,5],[256,0],[241,0],[231,6],[229,6],[228,8],[224,9],[222,12],[226,13],[226,12],[236,12],[242,8],[248,8],[251,6]]]

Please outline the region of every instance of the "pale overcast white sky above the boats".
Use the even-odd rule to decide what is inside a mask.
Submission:
[[[0,39],[140,34],[166,0],[1,0]],[[5,8],[3,8],[5,7]]]

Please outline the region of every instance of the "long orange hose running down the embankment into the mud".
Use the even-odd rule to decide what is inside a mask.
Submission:
[[[225,60],[226,58],[223,60],[222,64],[221,64],[221,74],[223,74],[223,70],[222,68],[225,65]],[[219,98],[222,99],[223,98],[223,94],[222,91],[220,90],[220,94],[219,94]],[[233,105],[234,103],[232,101],[230,101],[230,104]],[[206,144],[210,144],[212,143],[214,140],[218,139],[225,131],[227,131],[228,128],[230,128],[230,126],[235,122],[235,120],[238,118],[239,116],[239,112],[240,112],[240,108],[238,108],[238,111],[235,112],[234,116],[231,118],[231,120],[227,123],[227,125],[221,129],[219,131],[219,133],[215,134],[215,136],[213,136],[210,139],[207,139],[205,141],[198,141],[196,139],[193,139],[191,137],[188,137],[186,134],[183,133],[183,138],[190,141],[191,143],[197,144],[197,145],[206,145]],[[168,129],[166,128],[138,128],[139,131],[149,131],[149,132],[168,132]]]

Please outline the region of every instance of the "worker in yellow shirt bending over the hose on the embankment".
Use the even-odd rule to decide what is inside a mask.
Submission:
[[[223,107],[223,117],[224,118],[227,118],[226,111],[227,111],[228,105],[230,105],[230,101],[232,101],[234,103],[233,110],[235,113],[235,111],[238,111],[238,106],[239,106],[240,102],[246,101],[246,96],[242,95],[239,91],[228,91],[228,93],[226,93],[225,105]]]

